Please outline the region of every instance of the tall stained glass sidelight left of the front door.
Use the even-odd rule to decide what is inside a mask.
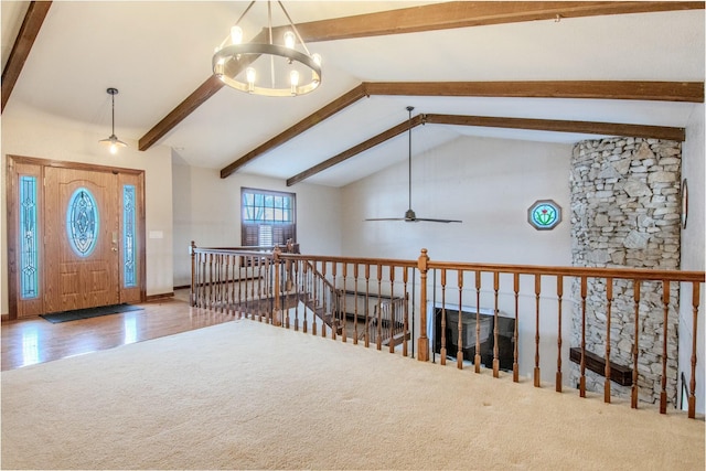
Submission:
[[[36,243],[36,176],[20,176],[20,297],[36,299],[39,254]]]

